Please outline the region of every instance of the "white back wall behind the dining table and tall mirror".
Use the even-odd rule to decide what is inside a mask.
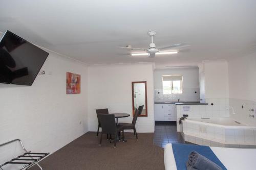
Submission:
[[[89,67],[89,131],[97,131],[95,109],[108,108],[109,112],[129,113],[119,122],[131,123],[132,82],[147,82],[147,117],[138,117],[138,132],[154,132],[153,64],[116,64]]]

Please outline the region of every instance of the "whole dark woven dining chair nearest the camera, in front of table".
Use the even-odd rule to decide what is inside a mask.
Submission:
[[[124,141],[124,133],[123,127],[116,125],[115,115],[114,114],[98,114],[99,122],[101,125],[101,134],[99,145],[101,146],[102,134],[110,134],[114,135],[114,148],[116,148],[116,138],[118,134],[122,131],[122,138]],[[121,135],[119,135],[119,141],[121,139]]]

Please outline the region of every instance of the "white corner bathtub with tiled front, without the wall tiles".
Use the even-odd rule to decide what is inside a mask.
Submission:
[[[185,141],[212,147],[256,147],[256,127],[228,117],[182,120]]]

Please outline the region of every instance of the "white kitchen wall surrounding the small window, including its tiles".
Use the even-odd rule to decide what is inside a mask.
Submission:
[[[162,76],[182,75],[183,94],[163,94]],[[156,69],[154,71],[155,101],[200,101],[199,68]],[[195,93],[197,91],[197,93]],[[160,92],[160,94],[158,94]]]

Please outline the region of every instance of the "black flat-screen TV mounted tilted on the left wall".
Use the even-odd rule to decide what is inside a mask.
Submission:
[[[48,55],[7,30],[0,41],[0,83],[31,86]]]

